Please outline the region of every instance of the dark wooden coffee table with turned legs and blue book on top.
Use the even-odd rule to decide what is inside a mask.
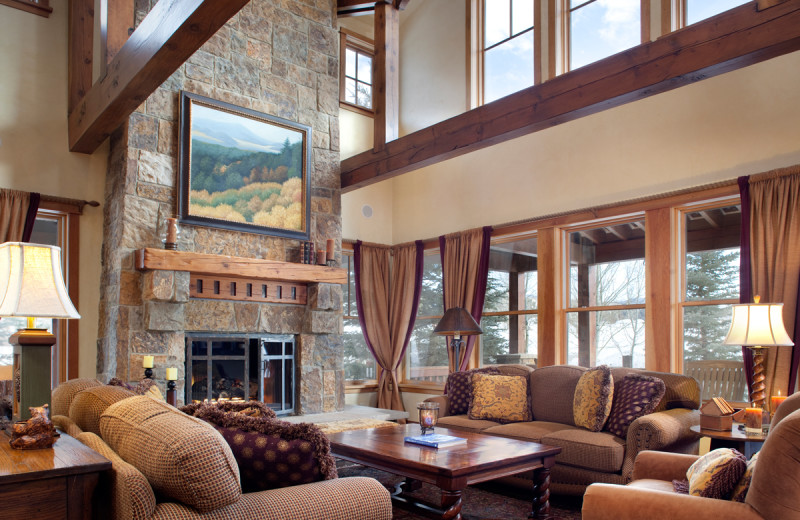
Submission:
[[[459,520],[461,493],[470,484],[533,471],[533,504],[529,518],[550,512],[550,468],[561,448],[481,433],[436,427],[436,433],[467,439],[466,444],[427,448],[403,442],[419,435],[418,424],[351,430],[328,435],[335,457],[406,477],[392,494],[395,504],[428,516]],[[412,498],[422,485],[441,489],[441,505]]]

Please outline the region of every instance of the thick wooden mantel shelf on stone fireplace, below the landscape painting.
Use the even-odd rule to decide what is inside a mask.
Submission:
[[[136,251],[136,268],[140,271],[188,271],[193,274],[296,283],[347,283],[347,271],[338,267],[151,247]]]

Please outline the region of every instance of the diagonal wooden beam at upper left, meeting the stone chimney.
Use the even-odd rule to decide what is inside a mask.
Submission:
[[[70,150],[94,152],[247,2],[160,0],[69,114]]]

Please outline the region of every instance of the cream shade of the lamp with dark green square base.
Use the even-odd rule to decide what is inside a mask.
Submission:
[[[0,316],[81,317],[64,287],[61,248],[0,244]]]

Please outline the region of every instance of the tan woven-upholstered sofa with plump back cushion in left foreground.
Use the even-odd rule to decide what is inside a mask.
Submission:
[[[60,429],[112,463],[95,494],[102,518],[392,517],[388,491],[371,478],[334,478],[242,493],[236,460],[222,435],[210,424],[146,395],[130,396],[119,387],[78,379],[53,391],[52,408]]]

